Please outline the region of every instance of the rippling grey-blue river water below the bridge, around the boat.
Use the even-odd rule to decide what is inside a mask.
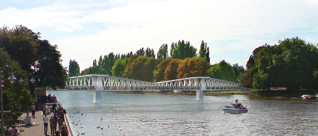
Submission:
[[[55,94],[70,120],[78,122],[75,132],[90,136],[318,135],[316,99],[204,95],[204,101],[196,101],[195,94],[185,93],[102,92],[102,103],[93,103],[93,92],[47,93]],[[223,113],[222,107],[235,99],[248,113]]]

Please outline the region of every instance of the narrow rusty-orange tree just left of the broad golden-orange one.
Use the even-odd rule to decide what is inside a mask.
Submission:
[[[179,67],[180,62],[181,62],[180,59],[172,59],[168,63],[167,68],[164,71],[164,80],[165,81],[177,79],[177,75],[178,75],[177,69]]]

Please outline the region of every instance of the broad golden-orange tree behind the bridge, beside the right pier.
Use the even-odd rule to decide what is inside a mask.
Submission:
[[[192,57],[181,61],[178,67],[177,78],[199,77],[206,74],[209,63],[204,58]]]

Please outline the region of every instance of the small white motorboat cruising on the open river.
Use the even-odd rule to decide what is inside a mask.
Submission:
[[[235,102],[231,103],[230,106],[225,106],[222,108],[224,113],[240,114],[247,113],[247,108],[243,107],[241,103],[236,99]]]

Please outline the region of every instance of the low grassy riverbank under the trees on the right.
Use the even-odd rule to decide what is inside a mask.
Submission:
[[[204,95],[259,95],[259,96],[284,96],[284,97],[300,97],[303,94],[315,95],[318,90],[286,90],[286,89],[273,89],[258,90],[250,89],[247,91],[204,91]]]

